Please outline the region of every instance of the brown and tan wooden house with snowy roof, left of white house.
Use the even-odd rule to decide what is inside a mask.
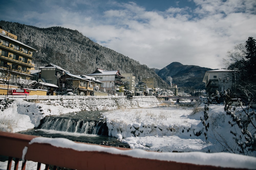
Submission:
[[[79,75],[70,74],[65,72],[59,78],[61,94],[72,92],[73,94],[81,96],[93,95],[93,81],[83,79]]]

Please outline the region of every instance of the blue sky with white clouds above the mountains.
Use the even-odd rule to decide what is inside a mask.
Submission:
[[[5,21],[78,30],[157,69],[225,68],[227,51],[256,38],[255,0],[9,0],[1,11]]]

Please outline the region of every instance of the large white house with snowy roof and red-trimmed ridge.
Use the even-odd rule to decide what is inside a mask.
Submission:
[[[87,76],[94,77],[101,81],[103,83],[101,88],[105,88],[106,92],[112,95],[114,95],[116,88],[123,85],[122,79],[124,79],[124,76],[122,76],[118,70],[106,71],[99,68],[93,73],[87,74]]]

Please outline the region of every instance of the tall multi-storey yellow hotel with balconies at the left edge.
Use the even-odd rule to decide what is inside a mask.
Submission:
[[[17,40],[17,36],[0,28],[0,81],[30,79],[33,52],[37,50]],[[9,74],[10,73],[10,74]]]

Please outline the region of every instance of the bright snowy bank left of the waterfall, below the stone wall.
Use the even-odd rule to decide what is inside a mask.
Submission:
[[[10,108],[0,111],[0,130],[19,132],[38,127],[40,120],[48,115],[61,115],[79,109],[68,109],[62,106],[49,106],[42,103],[31,103],[16,99]]]

